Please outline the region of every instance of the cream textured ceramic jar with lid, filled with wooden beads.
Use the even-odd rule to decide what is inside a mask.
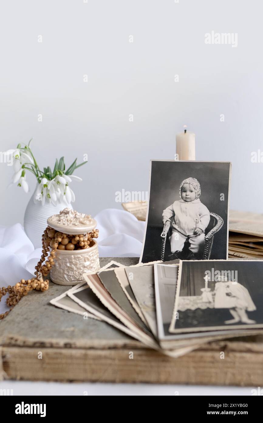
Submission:
[[[57,232],[68,235],[89,233],[97,222],[89,214],[64,209],[60,214],[49,217],[47,224]],[[59,285],[76,285],[84,281],[83,273],[98,272],[100,269],[98,244],[95,239],[88,248],[78,250],[56,250],[54,265],[50,271],[52,282]]]

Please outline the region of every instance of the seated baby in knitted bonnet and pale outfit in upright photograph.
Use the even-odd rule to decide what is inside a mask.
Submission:
[[[189,250],[194,258],[201,256],[204,247],[205,229],[210,221],[207,207],[201,203],[200,184],[195,178],[182,181],[179,189],[181,200],[174,201],[163,211],[163,223],[170,220],[172,234],[170,236],[171,253],[175,257],[182,252],[186,239],[189,239]]]

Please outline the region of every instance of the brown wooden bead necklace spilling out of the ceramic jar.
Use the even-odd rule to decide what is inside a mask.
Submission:
[[[56,250],[73,251],[89,248],[89,244],[92,243],[92,238],[98,238],[98,233],[98,229],[93,229],[89,233],[68,235],[67,233],[57,232],[55,229],[47,226],[42,235],[42,255],[37,266],[35,266],[35,277],[28,280],[21,279],[21,281],[14,286],[8,285],[7,288],[3,286],[3,288],[0,289],[0,301],[4,295],[9,294],[9,297],[6,299],[6,304],[10,307],[10,310],[0,314],[0,319],[7,316],[19,300],[27,295],[29,291],[35,289],[36,291],[43,292],[49,289],[49,280],[43,280],[43,276],[46,277],[54,265]],[[43,264],[46,257],[47,260]]]

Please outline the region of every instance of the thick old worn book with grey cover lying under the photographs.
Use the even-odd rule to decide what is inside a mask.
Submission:
[[[100,258],[100,265],[110,260]],[[125,265],[138,262],[137,258],[115,260]],[[48,291],[31,292],[0,321],[2,379],[263,384],[262,330],[252,330],[249,337],[212,342],[172,358],[146,348],[106,322],[84,319],[49,303],[67,290],[67,286],[51,282]]]

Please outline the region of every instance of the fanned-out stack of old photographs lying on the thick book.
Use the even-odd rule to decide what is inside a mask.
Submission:
[[[111,261],[52,299],[178,357],[210,341],[263,333],[263,262]]]

